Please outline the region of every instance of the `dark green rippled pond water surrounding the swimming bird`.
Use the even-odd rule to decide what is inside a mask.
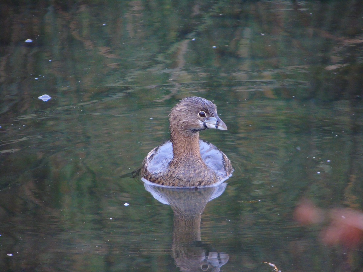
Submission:
[[[0,3],[1,271],[363,271],[293,219],[363,210],[361,1],[31,2]],[[235,171],[164,205],[127,174],[191,95]]]

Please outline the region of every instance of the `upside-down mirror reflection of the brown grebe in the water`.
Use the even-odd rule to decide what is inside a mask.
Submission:
[[[177,189],[144,184],[145,189],[174,211],[172,256],[180,271],[220,271],[229,255],[201,242],[200,221],[208,201],[219,197],[227,184]]]

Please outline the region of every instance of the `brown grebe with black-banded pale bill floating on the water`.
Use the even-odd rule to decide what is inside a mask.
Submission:
[[[219,184],[232,175],[227,156],[199,140],[207,128],[227,130],[211,101],[197,96],[182,99],[169,115],[170,141],[152,149],[143,161],[145,182],[176,187]]]

